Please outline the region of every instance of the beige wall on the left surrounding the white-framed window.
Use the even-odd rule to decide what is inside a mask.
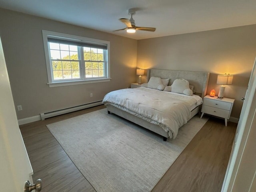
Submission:
[[[18,119],[102,100],[136,81],[137,40],[0,9],[0,35]],[[110,41],[110,82],[49,88],[42,30]],[[93,93],[93,97],[90,97]]]

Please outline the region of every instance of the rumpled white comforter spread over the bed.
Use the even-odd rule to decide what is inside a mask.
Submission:
[[[194,96],[140,87],[112,91],[106,94],[102,103],[158,124],[169,131],[170,138],[176,138],[178,129],[190,118],[190,107],[201,100]]]

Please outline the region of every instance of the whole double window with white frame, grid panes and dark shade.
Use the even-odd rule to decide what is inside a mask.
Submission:
[[[110,42],[42,33],[50,87],[110,81]]]

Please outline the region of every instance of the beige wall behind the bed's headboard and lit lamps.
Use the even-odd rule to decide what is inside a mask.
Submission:
[[[207,94],[218,95],[217,74],[234,74],[224,97],[235,99],[231,116],[239,118],[256,57],[256,25],[138,40],[137,50],[138,68],[210,72]]]

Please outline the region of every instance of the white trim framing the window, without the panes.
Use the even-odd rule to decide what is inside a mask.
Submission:
[[[109,82],[110,78],[110,42],[92,38],[86,38],[81,36],[75,36],[70,34],[63,34],[58,32],[52,32],[47,30],[42,30],[43,35],[43,42],[44,42],[44,53],[46,59],[46,70],[47,70],[47,77],[48,77],[48,85],[49,87],[59,87],[59,86],[69,86],[69,85],[77,85],[77,84],[88,84],[88,83],[99,83],[99,82]],[[106,71],[107,76],[106,78],[98,78],[98,79],[86,79],[86,80],[67,80],[61,82],[53,82],[52,81],[52,70],[50,64],[50,55],[49,55],[49,48],[48,48],[48,37],[61,37],[61,38],[70,38],[70,39],[78,39],[86,42],[93,42],[98,44],[106,44],[107,45],[107,54],[106,54]]]

